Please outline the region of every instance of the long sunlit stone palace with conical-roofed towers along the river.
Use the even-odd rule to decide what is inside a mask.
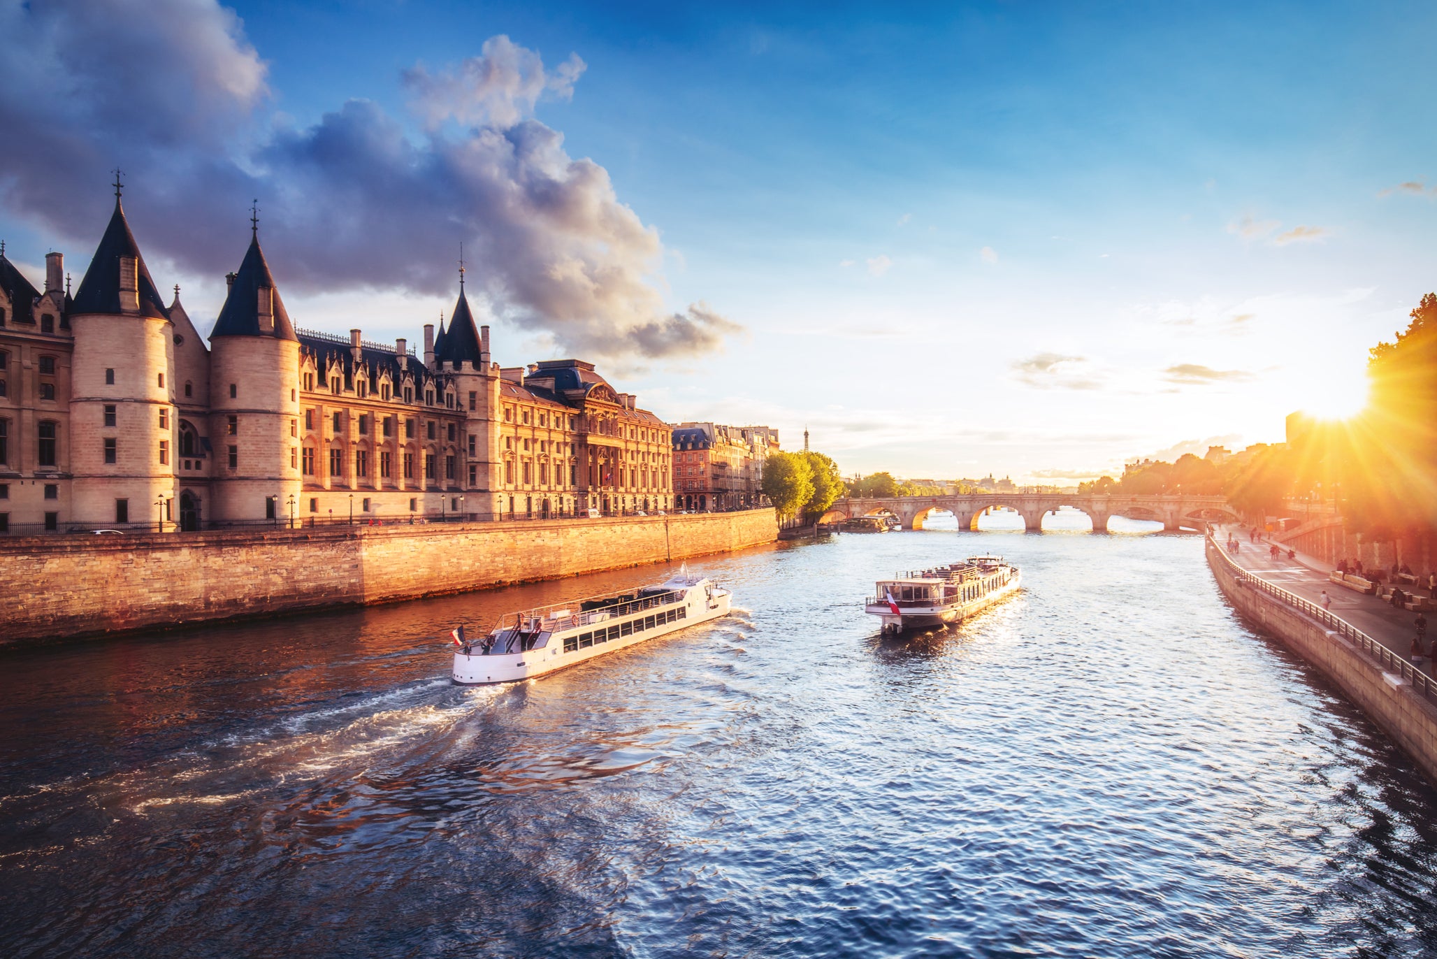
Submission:
[[[668,509],[670,428],[595,372],[502,368],[463,289],[399,339],[296,329],[257,224],[210,332],[149,276],[116,196],[75,296],[0,249],[0,532],[547,518]]]

